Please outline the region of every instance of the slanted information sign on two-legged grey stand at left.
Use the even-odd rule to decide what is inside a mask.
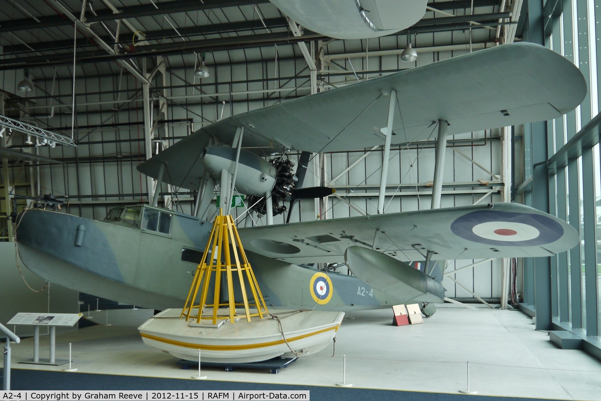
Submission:
[[[19,363],[35,365],[59,366],[69,360],[56,359],[56,326],[73,327],[82,317],[82,313],[17,313],[13,319],[8,320],[9,325],[34,326],[34,357]],[[40,326],[47,326],[50,337],[49,358],[40,358]]]

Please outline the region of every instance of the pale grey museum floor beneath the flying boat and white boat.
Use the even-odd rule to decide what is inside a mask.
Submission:
[[[94,312],[93,312],[94,313]],[[136,327],[150,310],[110,311],[111,326],[92,326],[56,336],[56,357],[68,358],[81,373],[188,379],[175,358],[147,347]],[[389,310],[355,312],[338,331],[332,346],[301,358],[278,375],[237,369],[204,369],[209,380],[333,386],[342,381],[343,355],[347,382],[353,387],[457,393],[466,387],[478,394],[550,399],[601,400],[601,362],[580,350],[561,350],[546,332],[518,311],[439,307],[424,324],[391,325]],[[94,320],[105,322],[105,312]],[[41,337],[40,357],[47,357],[48,337]],[[31,358],[33,339],[13,344],[13,369],[64,368],[19,364]],[[76,373],[64,373],[76,375]],[[205,386],[206,387],[206,386]]]

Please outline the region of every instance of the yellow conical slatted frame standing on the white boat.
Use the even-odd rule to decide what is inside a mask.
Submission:
[[[230,241],[234,260],[231,260]],[[225,244],[225,246],[224,246]],[[214,257],[215,256],[215,257]],[[222,260],[223,259],[223,260]],[[208,264],[207,264],[208,262]],[[209,293],[209,284],[211,278],[215,273],[215,284],[213,291],[213,303],[207,304],[207,294]],[[222,272],[226,273],[227,277],[227,289],[228,289],[228,302],[219,303],[219,296],[221,295],[221,277]],[[243,303],[236,303],[234,300],[234,283],[232,275],[237,272],[240,290],[242,290]],[[249,304],[248,295],[246,291],[246,285],[244,278],[248,280],[250,290],[254,299],[254,304]],[[200,301],[195,304],[200,292]],[[180,318],[186,316],[186,321],[189,319],[196,318],[197,323],[201,322],[201,316],[203,315],[204,308],[213,308],[213,321],[212,324],[217,323],[217,312],[219,307],[228,306],[230,308],[230,322],[234,323],[240,317],[246,317],[248,322],[251,321],[251,317],[258,316],[263,319],[263,316],[267,316],[267,305],[261,294],[261,290],[255,278],[254,272],[252,272],[251,264],[246,258],[242,241],[236,230],[236,224],[231,215],[224,216],[221,208],[219,209],[219,216],[215,218],[213,222],[213,228],[207,241],[207,246],[204,248],[203,259],[196,269],[194,280],[192,280],[192,286],[188,292],[188,298],[182,309]],[[236,306],[244,307],[244,313],[238,314]],[[251,313],[250,308],[255,307],[256,313]],[[192,310],[198,308],[197,316],[191,316]],[[242,311],[240,311],[242,312]],[[207,316],[208,317],[208,316]],[[208,319],[207,319],[208,320]],[[207,322],[208,323],[208,322]]]

